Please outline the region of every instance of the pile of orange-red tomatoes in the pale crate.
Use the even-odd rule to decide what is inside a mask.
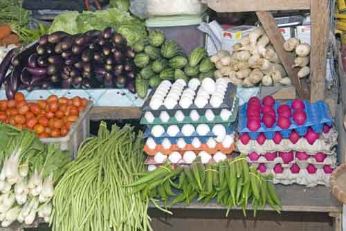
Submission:
[[[0,122],[34,131],[39,138],[64,137],[88,104],[78,96],[69,99],[57,95],[27,102],[23,93],[17,92],[15,100],[0,100]]]

